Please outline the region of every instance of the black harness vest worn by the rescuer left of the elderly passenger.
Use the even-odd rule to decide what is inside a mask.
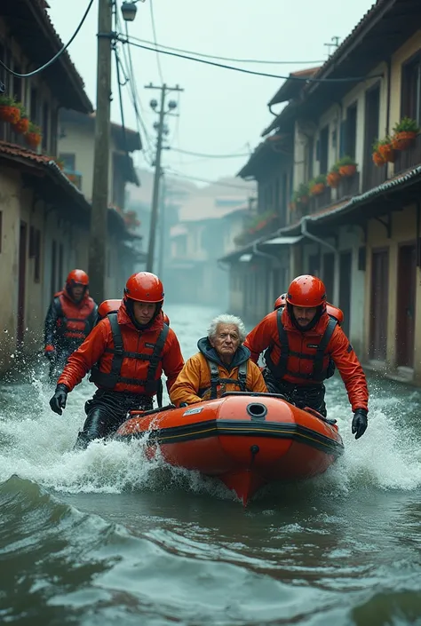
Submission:
[[[104,304],[104,303],[102,303]],[[109,373],[99,370],[99,364],[91,368],[91,376],[89,380],[98,384],[100,387],[114,389],[118,383],[133,384],[142,387],[148,394],[155,394],[159,389],[161,378],[156,378],[156,370],[161,361],[163,346],[168,336],[170,328],[167,324],[163,324],[163,329],[156,338],[154,351],[152,354],[132,353],[124,350],[122,331],[117,321],[117,313],[107,313],[107,318],[113,335],[114,348],[106,348],[107,353],[113,354],[111,361],[111,370]],[[123,359],[134,359],[137,361],[149,361],[146,378],[128,378],[122,376]]]

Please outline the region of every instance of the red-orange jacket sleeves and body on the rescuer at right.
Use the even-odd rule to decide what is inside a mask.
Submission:
[[[281,345],[277,313],[277,311],[273,311],[266,315],[266,317],[250,331],[244,341],[244,345],[250,349],[251,359],[256,363],[258,362],[260,353],[269,347],[272,348],[272,361],[275,365],[279,363]],[[288,337],[290,349],[287,373],[282,376],[282,380],[297,385],[322,384],[320,380],[314,380],[311,376],[314,368],[314,355],[328,327],[330,316],[328,313],[323,313],[314,329],[304,332],[296,329],[290,320],[290,314],[286,308],[282,312],[281,321]],[[342,376],[353,411],[357,408],[368,410],[369,390],[364,371],[361,368],[357,355],[353,352],[353,346],[349,343],[346,334],[338,324],[324,352],[324,371],[328,368],[329,358],[334,361],[339,374]]]

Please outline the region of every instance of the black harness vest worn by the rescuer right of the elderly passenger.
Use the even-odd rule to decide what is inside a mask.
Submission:
[[[294,376],[295,378],[303,378],[303,380],[307,381],[315,381],[321,383],[326,378],[330,378],[334,373],[334,363],[329,359],[328,365],[324,367],[325,357],[326,357],[326,348],[329,345],[330,339],[333,335],[334,330],[338,325],[338,320],[334,317],[329,317],[328,326],[324,331],[324,334],[317,346],[315,353],[296,353],[290,350],[290,342],[288,340],[288,333],[283,328],[282,324],[282,312],[283,309],[278,309],[276,313],[276,323],[278,327],[278,337],[279,337],[279,345],[281,347],[281,355],[278,363],[274,363],[271,358],[272,347],[267,348],[265,353],[265,361],[266,366],[271,371],[272,375],[281,379],[286,374],[290,376]],[[293,372],[288,369],[288,361],[290,356],[298,357],[298,359],[306,359],[309,361],[314,361],[313,372],[309,374],[303,374],[301,372]],[[332,371],[333,366],[333,371]]]

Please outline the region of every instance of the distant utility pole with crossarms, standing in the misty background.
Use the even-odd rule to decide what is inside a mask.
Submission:
[[[177,107],[177,102],[171,100],[168,104],[168,110],[165,111],[165,97],[170,91],[184,91],[176,85],[175,87],[168,87],[163,84],[162,86],[155,86],[152,83],[146,85],[146,89],[158,89],[161,90],[161,103],[159,110],[159,122],[156,124],[156,130],[158,132],[158,139],[156,143],[156,156],[155,156],[155,178],[154,178],[154,191],[152,195],[152,210],[151,210],[151,222],[149,230],[149,245],[147,248],[147,272],[154,271],[154,253],[155,253],[155,235],[156,224],[158,221],[158,206],[159,206],[159,181],[161,178],[161,153],[163,151],[163,134],[165,131],[164,118],[169,114],[171,110]],[[156,100],[151,100],[150,106],[155,110],[158,103]]]

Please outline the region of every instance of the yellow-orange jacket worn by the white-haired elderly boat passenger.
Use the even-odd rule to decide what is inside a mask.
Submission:
[[[218,367],[219,378],[231,378],[233,383],[221,382],[218,384],[218,398],[224,392],[238,392],[238,373],[242,363],[247,364],[246,390],[249,392],[266,393],[267,387],[260,368],[250,360],[250,350],[240,345],[234,354],[231,368],[219,359],[218,353],[208,341],[207,337],[199,339],[197,347],[200,352],[187,359],[175,384],[171,387],[171,402],[179,407],[181,402],[195,404],[211,398],[211,370],[208,363],[212,361]]]

